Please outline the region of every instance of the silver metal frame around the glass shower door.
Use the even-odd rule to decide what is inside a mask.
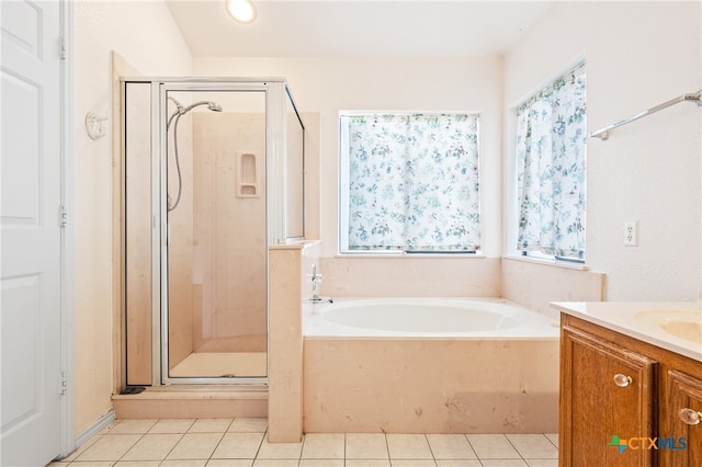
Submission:
[[[269,367],[269,284],[268,249],[265,252],[265,307],[267,307],[267,374],[261,377],[170,377],[168,339],[168,91],[184,92],[264,92],[265,95],[265,229],[268,246],[285,243],[285,99],[286,82],[283,78],[150,78],[151,83],[151,322],[154,386],[179,384],[217,384],[239,386],[268,386]],[[275,190],[274,187],[279,187]],[[280,189],[282,187],[282,190]]]

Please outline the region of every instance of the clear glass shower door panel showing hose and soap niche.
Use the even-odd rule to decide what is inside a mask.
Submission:
[[[166,102],[163,383],[265,378],[265,92]]]

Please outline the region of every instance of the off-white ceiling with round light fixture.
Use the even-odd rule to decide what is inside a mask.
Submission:
[[[509,50],[555,0],[252,1],[252,24],[224,0],[167,4],[194,56],[453,58]]]

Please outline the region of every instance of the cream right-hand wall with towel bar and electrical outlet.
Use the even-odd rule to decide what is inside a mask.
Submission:
[[[582,56],[589,132],[698,91],[701,7],[672,1],[554,4],[506,57],[506,106],[513,112],[540,83]],[[699,299],[701,127],[702,112],[686,103],[615,129],[607,141],[588,139],[587,263],[607,274],[608,299]],[[638,247],[623,246],[627,220],[638,221]]]

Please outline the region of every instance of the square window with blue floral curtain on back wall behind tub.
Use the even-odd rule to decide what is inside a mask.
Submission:
[[[480,248],[478,115],[340,116],[340,250]]]

